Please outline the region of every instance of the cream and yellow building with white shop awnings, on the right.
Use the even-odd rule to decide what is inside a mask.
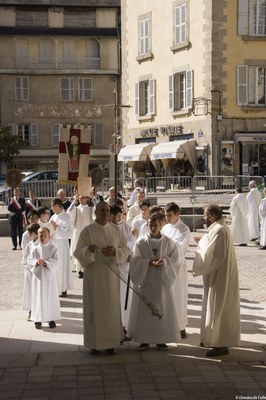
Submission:
[[[124,174],[266,175],[265,1],[122,0],[121,21]]]

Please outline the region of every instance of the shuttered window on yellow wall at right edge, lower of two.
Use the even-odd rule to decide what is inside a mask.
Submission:
[[[266,105],[266,66],[237,66],[237,104]]]

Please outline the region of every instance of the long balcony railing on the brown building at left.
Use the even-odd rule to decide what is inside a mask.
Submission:
[[[3,62],[3,60],[2,60]],[[0,66],[2,64],[0,63]],[[15,57],[14,66],[17,69],[100,69],[100,58],[86,57],[86,58],[63,58],[55,60],[53,58],[36,58],[29,57]],[[3,66],[2,66],[3,68]],[[4,68],[8,68],[7,66]]]

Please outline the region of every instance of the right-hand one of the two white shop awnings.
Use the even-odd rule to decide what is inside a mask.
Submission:
[[[174,140],[172,142],[159,143],[151,151],[151,160],[163,160],[166,158],[183,158],[187,156],[193,168],[196,167],[196,142],[194,139]]]

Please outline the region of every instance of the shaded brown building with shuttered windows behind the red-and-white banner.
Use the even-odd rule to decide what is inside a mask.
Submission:
[[[59,125],[92,126],[89,169],[112,171],[120,87],[118,0],[0,1],[0,124],[22,171],[57,169]]]

